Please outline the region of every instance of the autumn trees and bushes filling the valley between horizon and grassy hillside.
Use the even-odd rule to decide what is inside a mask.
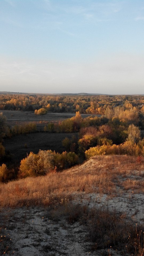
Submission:
[[[25,137],[25,156],[15,160],[13,149],[4,146],[18,136],[37,134],[36,122],[11,125],[0,113],[0,181],[46,175],[51,171],[62,171],[77,165],[95,155],[144,155],[144,96],[143,95],[19,95],[1,94],[0,111],[24,111],[35,115],[49,113],[75,113],[63,121],[45,122],[43,138],[55,134],[55,141],[61,134],[65,138],[59,143],[59,150],[49,145],[43,150],[30,151]],[[89,114],[82,118],[81,114]],[[71,135],[71,137],[69,136]],[[37,137],[40,136],[37,135]],[[35,136],[36,138],[36,136]],[[30,140],[30,138],[29,138]],[[63,149],[63,152],[62,152]],[[18,162],[19,161],[19,162]]]

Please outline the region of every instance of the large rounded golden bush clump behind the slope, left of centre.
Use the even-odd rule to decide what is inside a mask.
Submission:
[[[19,176],[46,175],[50,171],[63,170],[79,163],[74,152],[55,153],[51,150],[39,150],[38,154],[30,152],[29,156],[21,160]]]

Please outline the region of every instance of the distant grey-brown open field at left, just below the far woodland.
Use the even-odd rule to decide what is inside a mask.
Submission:
[[[47,122],[59,122],[63,121],[67,118],[71,118],[75,115],[75,113],[50,113],[48,112],[46,115],[35,115],[34,112],[30,111],[14,111],[14,110],[0,110],[3,115],[7,118],[7,124],[9,126],[13,126],[16,124],[23,124],[26,122],[35,122],[43,124]],[[83,118],[90,116],[89,114],[81,114]],[[92,115],[95,116],[95,115]],[[98,115],[100,116],[100,115]]]

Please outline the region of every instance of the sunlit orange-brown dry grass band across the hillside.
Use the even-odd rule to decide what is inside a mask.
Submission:
[[[28,177],[0,185],[0,205],[50,205],[61,199],[74,199],[79,193],[117,192],[120,178],[133,170],[142,170],[143,163],[137,163],[136,157],[97,156],[82,166],[59,173],[49,173],[43,177]],[[138,174],[137,174],[138,175]],[[121,188],[139,189],[143,192],[143,181],[128,179],[121,182]]]

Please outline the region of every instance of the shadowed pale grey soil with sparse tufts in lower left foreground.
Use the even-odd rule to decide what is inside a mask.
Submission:
[[[99,256],[107,253],[107,250],[90,250],[83,225],[78,222],[69,224],[65,218],[51,220],[47,211],[39,207],[23,207],[5,212],[7,232],[14,243],[9,255]],[[119,253],[113,251],[112,255]]]

